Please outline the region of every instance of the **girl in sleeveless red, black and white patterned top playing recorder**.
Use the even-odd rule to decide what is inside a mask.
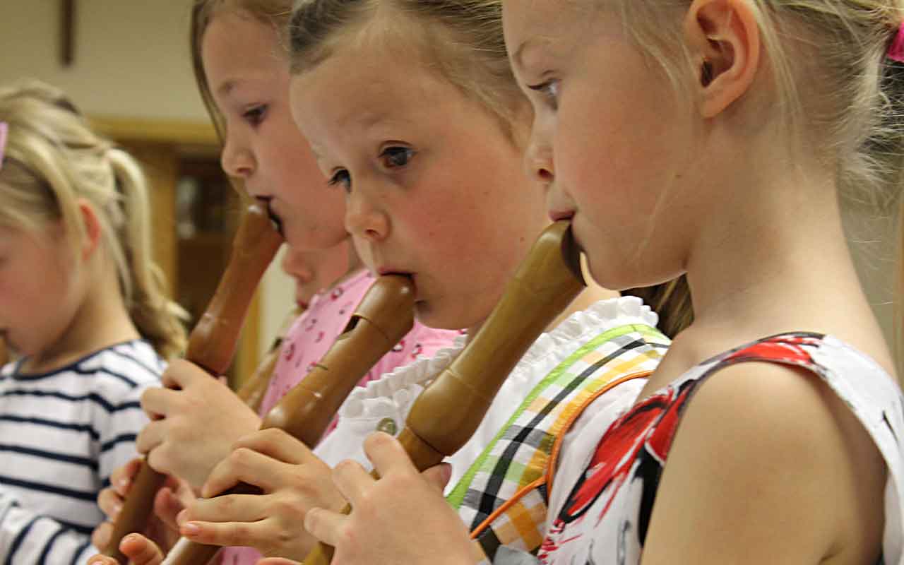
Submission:
[[[505,562],[904,563],[901,396],[835,193],[899,197],[904,5],[504,10],[550,212],[607,286],[686,272],[695,314],[563,458],[539,559]],[[442,469],[367,448],[380,481],[334,471],[352,515],[306,515],[335,562],[474,562]]]

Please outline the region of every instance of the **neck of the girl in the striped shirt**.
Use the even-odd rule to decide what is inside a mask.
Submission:
[[[90,259],[85,265],[82,276],[90,282],[84,285],[84,296],[70,325],[60,339],[25,361],[24,372],[50,372],[89,353],[140,337],[123,302],[116,269],[112,261],[101,259]]]

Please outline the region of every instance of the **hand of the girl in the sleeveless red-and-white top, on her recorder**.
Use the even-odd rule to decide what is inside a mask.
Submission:
[[[353,512],[307,513],[305,528],[335,547],[334,563],[474,563],[465,524],[443,498],[447,465],[420,474],[395,438],[372,434],[364,451],[381,479],[353,461],[335,467],[333,480]]]

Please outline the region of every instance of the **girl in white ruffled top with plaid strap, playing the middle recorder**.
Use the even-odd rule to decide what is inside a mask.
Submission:
[[[336,52],[292,81],[292,105],[329,184],[346,193],[346,226],[368,265],[412,277],[425,324],[464,326],[472,334],[549,219],[541,190],[523,176],[530,114],[508,68],[498,6],[440,7],[410,2],[386,14],[367,10],[363,26],[347,30],[343,17],[325,11],[338,24],[323,34]],[[494,33],[481,33],[475,24],[493,17],[485,27]],[[393,18],[400,18],[397,24]],[[425,50],[428,33],[438,33],[447,47]],[[397,62],[398,53],[408,55]],[[322,54],[304,53],[298,61],[320,61]],[[655,315],[636,297],[613,296],[591,287],[551,325],[509,376],[476,436],[452,458],[462,480],[450,501],[466,523],[476,527],[497,501],[541,478],[554,440],[607,382],[643,375],[658,363],[668,340],[654,330]],[[411,402],[460,349],[353,391],[338,428],[315,456],[330,465],[363,459],[363,438],[375,428],[400,431]],[[607,392],[576,426],[607,426],[642,385],[638,379]],[[193,504],[180,517],[182,532],[195,541],[250,544],[268,555],[303,559],[311,547],[300,529],[305,510],[332,500],[323,494],[324,471],[285,434],[267,430],[243,438],[202,494],[238,479],[265,494]],[[545,504],[544,487],[529,489],[520,508],[536,515]],[[519,529],[523,542],[539,544],[542,524],[521,522],[535,528]],[[488,531],[505,536],[504,530]],[[510,536],[513,528],[507,530]],[[123,549],[156,559],[142,541]]]

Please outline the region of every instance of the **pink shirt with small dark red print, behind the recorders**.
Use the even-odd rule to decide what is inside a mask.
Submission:
[[[283,339],[273,378],[260,403],[261,415],[273,408],[279,399],[305,377],[314,363],[320,361],[336,336],[342,333],[352,317],[355,306],[361,302],[364,293],[374,280],[375,278],[364,270],[311,299],[307,310],[298,316]],[[451,345],[458,334],[457,331],[436,330],[415,322],[409,334],[405,335],[391,352],[383,355],[371,371],[358,382],[358,386],[376,381],[384,372],[391,372],[396,367],[407,365],[419,355],[428,357],[433,355],[439,349]],[[326,433],[330,433],[334,428],[335,421]],[[222,552],[221,563],[253,565],[259,559],[260,553],[250,548],[226,548]]]

